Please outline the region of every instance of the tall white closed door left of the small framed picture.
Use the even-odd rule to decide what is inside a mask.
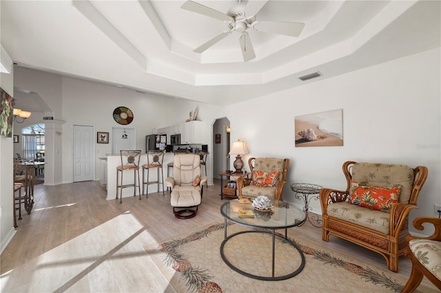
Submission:
[[[94,180],[93,126],[74,125],[74,182]]]

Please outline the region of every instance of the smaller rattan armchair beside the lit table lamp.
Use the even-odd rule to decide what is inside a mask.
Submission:
[[[249,170],[252,178],[240,177],[237,179],[238,197],[256,197],[265,195],[269,199],[282,200],[283,185],[285,185],[287,171],[289,167],[289,159],[277,158],[249,158]],[[256,172],[279,172],[278,178],[274,181],[274,186],[258,186],[254,183],[261,178],[256,176]]]

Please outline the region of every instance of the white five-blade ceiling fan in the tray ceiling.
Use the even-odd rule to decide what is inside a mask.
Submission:
[[[240,4],[241,0],[237,0]],[[238,12],[228,12],[224,14],[218,10],[214,10],[202,4],[196,3],[194,1],[186,1],[183,3],[181,8],[203,14],[207,17],[212,17],[214,19],[219,19],[221,21],[227,22],[229,30],[221,32],[213,39],[210,39],[206,43],[203,43],[198,48],[194,49],[193,52],[202,53],[208,48],[212,47],[218,41],[224,39],[232,32],[236,31],[240,33],[239,43],[240,49],[242,50],[243,60],[249,61],[256,58],[254,54],[254,49],[249,39],[249,34],[247,30],[253,28],[254,30],[261,32],[272,32],[275,34],[285,34],[291,37],[298,37],[305,26],[305,23],[299,22],[288,22],[288,21],[258,21],[256,20],[256,14],[260,11],[263,6],[265,6],[267,1],[262,0],[248,0],[245,10]]]

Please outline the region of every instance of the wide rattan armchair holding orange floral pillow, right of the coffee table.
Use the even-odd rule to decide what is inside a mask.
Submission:
[[[329,241],[329,236],[334,235],[378,252],[386,259],[389,270],[398,272],[398,257],[404,254],[409,236],[407,216],[411,209],[417,208],[427,168],[347,161],[343,172],[347,180],[345,191],[320,190],[322,239]],[[358,183],[378,188],[399,185],[399,202],[391,205],[389,212],[351,204],[351,193]]]

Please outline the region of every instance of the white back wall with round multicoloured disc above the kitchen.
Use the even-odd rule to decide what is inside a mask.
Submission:
[[[142,94],[110,85],[63,77],[63,183],[72,182],[72,128],[73,125],[92,125],[95,132],[109,132],[108,144],[96,143],[95,179],[101,177],[100,156],[112,152],[112,127],[124,127],[114,121],[116,107],[125,106],[134,113],[127,128],[136,128],[136,145],[145,150],[145,135],[157,128],[183,123],[189,112],[198,110],[198,120],[207,125],[204,141],[209,144],[209,125],[224,112],[219,106],[196,103],[156,94]],[[209,166],[207,165],[207,168]],[[208,172],[208,170],[207,170]]]

